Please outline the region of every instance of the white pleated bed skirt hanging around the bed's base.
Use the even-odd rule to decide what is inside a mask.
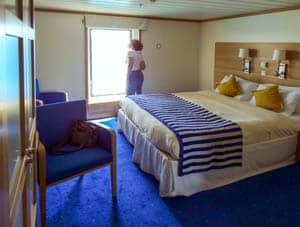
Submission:
[[[162,197],[190,196],[296,162],[297,135],[293,135],[244,146],[242,167],[178,176],[178,160],[153,145],[122,110],[118,129],[134,146],[133,162],[159,181]]]

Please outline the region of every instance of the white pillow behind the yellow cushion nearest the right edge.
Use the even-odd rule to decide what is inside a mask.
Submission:
[[[260,84],[256,90],[263,90],[270,86],[274,86],[275,84]],[[284,104],[284,110],[280,112],[283,115],[291,116],[296,112],[296,108],[299,106],[300,102],[300,92],[292,89],[282,88],[283,86],[279,86],[279,93],[282,97],[282,101]],[[255,97],[253,96],[250,100],[252,105],[256,105]]]

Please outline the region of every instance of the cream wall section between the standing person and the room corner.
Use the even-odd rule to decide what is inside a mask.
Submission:
[[[198,78],[195,78],[198,75],[198,32],[199,25],[195,23],[151,21],[149,29],[142,34],[148,65],[146,92],[198,89]],[[161,49],[155,48],[156,42],[161,43]]]

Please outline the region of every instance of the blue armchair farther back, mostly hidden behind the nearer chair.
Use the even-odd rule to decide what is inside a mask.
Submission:
[[[68,101],[68,93],[65,91],[41,92],[39,81],[37,79],[35,80],[35,96],[37,100],[37,106]]]

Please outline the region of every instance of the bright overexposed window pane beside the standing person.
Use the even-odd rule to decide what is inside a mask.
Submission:
[[[130,31],[91,29],[90,41],[90,98],[124,95]]]

